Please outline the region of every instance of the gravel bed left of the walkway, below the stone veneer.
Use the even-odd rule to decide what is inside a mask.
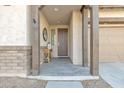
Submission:
[[[47,81],[20,77],[0,77],[0,88],[44,88]]]

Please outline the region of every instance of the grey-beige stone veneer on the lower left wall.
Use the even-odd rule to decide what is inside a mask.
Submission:
[[[30,73],[30,46],[0,46],[0,75],[28,75]]]

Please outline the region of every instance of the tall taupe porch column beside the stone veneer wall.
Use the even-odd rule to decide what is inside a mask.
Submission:
[[[38,75],[40,69],[40,30],[39,8],[32,6],[32,75]]]

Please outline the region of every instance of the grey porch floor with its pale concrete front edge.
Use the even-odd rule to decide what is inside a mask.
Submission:
[[[72,64],[70,58],[53,58],[50,63],[40,65],[40,73],[37,76],[28,76],[39,80],[96,80],[99,76],[92,76],[89,67]]]

